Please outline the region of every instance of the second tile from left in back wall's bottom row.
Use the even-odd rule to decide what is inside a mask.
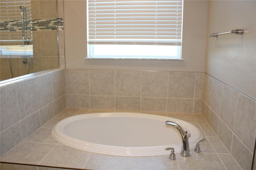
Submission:
[[[115,97],[90,95],[90,109],[114,110]]]

